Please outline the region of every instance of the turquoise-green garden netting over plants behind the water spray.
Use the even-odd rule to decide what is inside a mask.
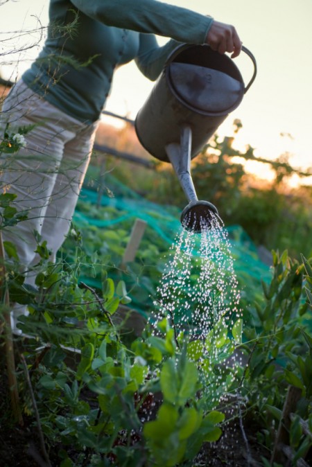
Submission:
[[[145,315],[153,306],[153,296],[168,263],[171,246],[182,229],[181,210],[145,200],[110,174],[105,176],[105,188],[99,195],[92,180],[86,179],[73,218],[91,261],[96,252],[96,263],[82,266],[81,279],[101,288],[104,268],[112,279],[125,281],[132,308]],[[137,218],[144,220],[147,227],[135,261],[128,263],[124,270],[121,261]],[[255,299],[261,300],[261,280],[270,281],[270,267],[260,260],[257,248],[241,227],[229,226],[227,231],[235,259],[234,270],[248,308]]]

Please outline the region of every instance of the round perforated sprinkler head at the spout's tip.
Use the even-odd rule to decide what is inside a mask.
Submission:
[[[215,216],[218,216],[218,211],[214,204],[208,201],[191,201],[182,211],[181,224],[184,229],[201,234],[202,229],[211,229]]]

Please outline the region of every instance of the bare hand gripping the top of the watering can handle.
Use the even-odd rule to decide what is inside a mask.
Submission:
[[[230,24],[214,21],[207,34],[206,43],[211,46],[212,50],[219,53],[232,53],[232,58],[241,53],[241,39],[239,39],[234,26]]]

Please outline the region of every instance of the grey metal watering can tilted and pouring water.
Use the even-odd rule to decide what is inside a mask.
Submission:
[[[245,46],[242,50],[254,65],[247,86],[229,56],[213,51],[209,45],[177,46],[135,119],[141,145],[160,161],[173,165],[189,201],[181,214],[182,226],[197,233],[204,224],[211,227],[218,211],[214,204],[198,200],[191,159],[239,106],[256,78],[256,60]]]

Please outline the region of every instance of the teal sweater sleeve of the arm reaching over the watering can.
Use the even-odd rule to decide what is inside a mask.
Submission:
[[[213,19],[157,0],[71,0],[107,26],[154,33],[178,42],[203,44]]]

